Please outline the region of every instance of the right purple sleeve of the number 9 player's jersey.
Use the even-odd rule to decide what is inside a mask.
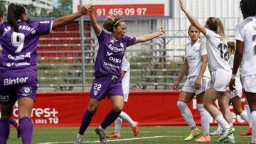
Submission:
[[[38,35],[46,35],[52,31],[53,21],[39,21],[33,23]]]

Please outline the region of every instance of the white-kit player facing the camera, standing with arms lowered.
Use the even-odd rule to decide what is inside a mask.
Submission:
[[[209,124],[210,115],[203,108],[203,95],[206,91],[208,82],[210,81],[210,72],[208,70],[208,58],[206,52],[206,46],[202,44],[202,40],[199,38],[200,32],[194,26],[189,26],[188,35],[191,38],[191,42],[185,47],[185,61],[178,74],[178,78],[174,82],[174,90],[178,89],[178,84],[181,82],[183,76],[188,73],[188,77],[181,93],[178,96],[177,106],[181,111],[181,115],[184,120],[191,127],[191,133],[184,140],[192,140],[201,134],[201,131],[196,128],[196,123],[193,120],[191,111],[188,109],[188,102],[196,95],[196,101],[198,102],[198,111],[201,114],[201,123],[203,127],[203,135],[198,138],[198,142],[210,142]]]

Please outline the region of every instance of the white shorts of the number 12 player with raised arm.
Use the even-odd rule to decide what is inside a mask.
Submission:
[[[231,79],[231,70],[226,71],[223,69],[213,70],[209,82],[209,88],[215,89],[217,92],[229,92],[228,88]]]

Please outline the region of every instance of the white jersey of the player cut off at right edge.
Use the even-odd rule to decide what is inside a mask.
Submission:
[[[238,23],[235,28],[235,40],[244,42],[242,77],[256,74],[256,16]]]

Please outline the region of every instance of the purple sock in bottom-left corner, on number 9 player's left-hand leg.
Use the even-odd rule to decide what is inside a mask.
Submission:
[[[5,144],[10,134],[9,119],[0,118],[0,143]]]

